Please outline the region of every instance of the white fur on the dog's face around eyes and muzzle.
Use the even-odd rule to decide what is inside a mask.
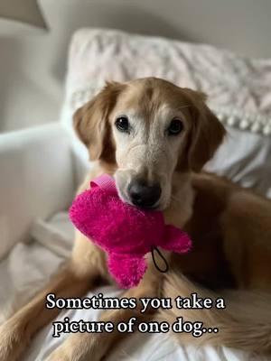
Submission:
[[[132,131],[127,134],[113,128],[117,145],[115,177],[119,195],[130,203],[127,187],[134,178],[145,177],[150,182],[159,180],[162,195],[156,206],[164,210],[171,202],[173,171],[178,160],[176,154],[183,152],[183,140],[189,132],[189,123],[180,109],[166,104],[155,109],[152,122],[147,121],[145,114],[136,113],[135,109],[121,109],[122,114],[128,116]],[[116,119],[117,116],[120,115],[115,111],[112,117]],[[165,129],[173,118],[182,119],[184,128],[180,136],[169,137]]]

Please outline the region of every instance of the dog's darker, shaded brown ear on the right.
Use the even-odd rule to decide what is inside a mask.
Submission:
[[[226,130],[219,119],[205,104],[206,95],[192,89],[182,89],[192,103],[192,132],[188,150],[188,166],[192,171],[201,171],[222,143]]]

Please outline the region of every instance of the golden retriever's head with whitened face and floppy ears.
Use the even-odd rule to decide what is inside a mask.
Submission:
[[[108,83],[74,125],[92,160],[116,165],[120,197],[142,208],[167,208],[173,174],[201,171],[225,134],[202,93],[154,78]]]

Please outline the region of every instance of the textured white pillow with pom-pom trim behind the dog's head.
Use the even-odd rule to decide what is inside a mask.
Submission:
[[[206,169],[271,197],[271,60],[111,30],[80,30],[70,44],[62,122],[74,136],[78,180],[89,167],[89,155],[72,130],[73,112],[106,80],[146,76],[208,94],[229,134]]]

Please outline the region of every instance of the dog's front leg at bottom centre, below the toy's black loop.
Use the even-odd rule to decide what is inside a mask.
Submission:
[[[141,312],[139,310],[139,298],[159,296],[160,284],[163,277],[157,274],[157,271],[149,266],[145,278],[134,289],[126,291],[122,297],[136,298],[136,309],[107,310],[103,312],[100,321],[110,321],[115,326],[118,322],[127,322],[130,318],[135,317],[138,320],[149,319],[150,311]],[[129,335],[128,333],[119,333],[116,329],[111,332],[102,333],[77,333],[70,335],[64,341],[61,347],[57,348],[46,361],[98,361],[108,355],[108,351],[116,347],[118,342]]]

